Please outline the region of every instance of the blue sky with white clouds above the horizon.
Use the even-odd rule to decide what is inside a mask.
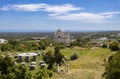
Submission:
[[[0,0],[0,32],[120,31],[120,0]]]

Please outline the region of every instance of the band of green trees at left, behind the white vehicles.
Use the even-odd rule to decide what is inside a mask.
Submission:
[[[49,41],[23,41],[23,40],[8,40],[7,44],[1,44],[0,50],[5,51],[32,51],[32,50],[45,50],[49,46]]]

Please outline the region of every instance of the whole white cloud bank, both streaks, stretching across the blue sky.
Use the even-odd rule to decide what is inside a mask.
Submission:
[[[75,7],[72,4],[49,5],[41,4],[19,4],[5,5],[2,11],[25,11],[25,12],[47,12],[49,17],[57,20],[80,20],[82,22],[104,22],[120,14],[120,12],[89,13],[82,12],[83,7]]]

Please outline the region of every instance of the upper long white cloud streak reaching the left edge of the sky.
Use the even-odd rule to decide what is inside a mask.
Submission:
[[[81,7],[74,7],[71,4],[63,4],[63,5],[48,5],[48,4],[21,4],[21,5],[7,5],[0,8],[0,10],[17,10],[17,11],[46,11],[52,12],[55,14],[66,13],[70,11],[76,11],[82,9]]]

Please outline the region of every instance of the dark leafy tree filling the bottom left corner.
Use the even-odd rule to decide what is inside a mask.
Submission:
[[[14,61],[9,56],[0,55],[0,79],[14,79],[15,78]]]

